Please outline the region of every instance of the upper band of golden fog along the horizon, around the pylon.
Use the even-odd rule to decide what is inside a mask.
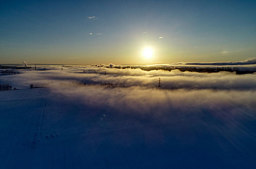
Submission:
[[[220,71],[217,73],[200,73],[180,70],[141,69],[110,69],[105,67],[72,66],[48,67],[46,71],[22,71],[15,79],[22,84],[77,83],[87,85],[111,85],[113,87],[157,88],[157,80],[162,80],[162,89],[218,89],[218,90],[248,90],[256,89],[256,73],[241,74]],[[9,78],[9,76],[4,77]],[[2,80],[4,80],[4,78]],[[11,78],[11,76],[10,76]],[[9,79],[12,80],[12,79]],[[58,82],[58,83],[57,83]]]

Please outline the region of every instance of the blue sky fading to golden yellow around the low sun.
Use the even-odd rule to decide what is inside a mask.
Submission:
[[[256,56],[255,20],[255,0],[3,1],[0,63],[244,60]]]

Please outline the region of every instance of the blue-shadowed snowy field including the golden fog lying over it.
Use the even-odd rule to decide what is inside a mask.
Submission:
[[[255,73],[41,67],[0,76],[0,169],[256,168]]]

